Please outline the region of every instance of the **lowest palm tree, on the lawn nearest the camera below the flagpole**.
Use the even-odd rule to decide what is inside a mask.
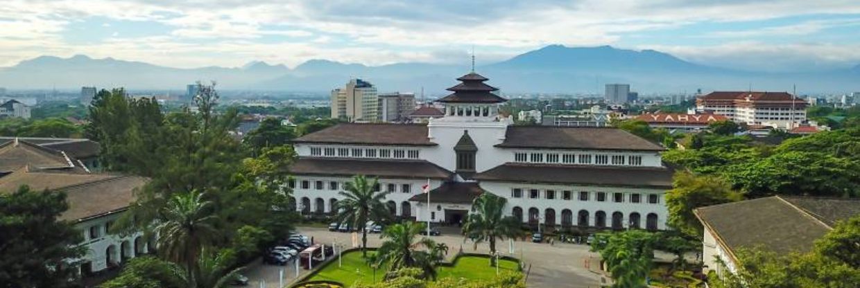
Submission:
[[[426,277],[436,278],[433,255],[428,251],[417,250],[437,248],[436,242],[430,238],[415,239],[425,227],[423,223],[406,221],[391,225],[382,232],[380,237],[386,240],[377,250],[377,257],[380,263],[388,264],[388,274],[393,275],[401,268],[415,267],[424,271]]]

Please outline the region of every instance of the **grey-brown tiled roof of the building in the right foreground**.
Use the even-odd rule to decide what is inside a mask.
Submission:
[[[857,215],[860,200],[795,200],[793,205],[779,196],[697,208],[697,218],[731,251],[765,248],[778,254],[805,253],[813,242],[831,230],[824,221],[804,210],[819,211],[826,221]],[[802,208],[806,207],[806,208]],[[839,211],[822,211],[823,209]],[[827,220],[830,219],[830,220]]]

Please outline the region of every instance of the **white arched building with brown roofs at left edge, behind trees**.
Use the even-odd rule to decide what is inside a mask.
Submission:
[[[154,239],[142,232],[109,232],[147,180],[96,173],[97,167],[88,164],[97,163],[99,150],[99,144],[88,139],[0,138],[0,193],[13,193],[22,185],[36,192],[64,192],[69,209],[58,219],[80,230],[79,245],[86,253],[74,261],[83,276],[120,267],[155,247]]]

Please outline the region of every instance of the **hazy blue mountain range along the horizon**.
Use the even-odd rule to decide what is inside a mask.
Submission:
[[[81,86],[126,89],[184,89],[197,80],[215,80],[222,89],[324,92],[351,77],[374,83],[380,92],[419,91],[440,95],[468,73],[465,65],[399,63],[380,66],[313,59],[290,69],[253,61],[242,67],[180,69],[114,58],[41,56],[0,68],[0,87],[8,89],[77,89]],[[695,64],[654,50],[611,46],[560,45],[519,54],[476,67],[501,93],[602,94],[605,83],[630,83],[640,93],[710,90],[788,91],[804,93],[860,90],[860,64],[851,69],[796,72],[733,70]]]

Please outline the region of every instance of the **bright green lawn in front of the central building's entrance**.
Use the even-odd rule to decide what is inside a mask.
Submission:
[[[368,251],[367,254],[375,252]],[[319,273],[308,279],[314,280],[330,280],[343,283],[351,286],[356,283],[372,283],[373,269],[365,263],[361,257],[360,251],[353,251],[343,254],[343,267],[338,267],[337,260],[331,261],[326,267],[322,267]],[[517,262],[512,260],[500,260],[499,272],[517,271]],[[464,279],[493,279],[495,277],[495,267],[489,266],[489,260],[482,257],[463,256],[457,261],[455,267],[439,267],[438,278],[464,278]],[[387,267],[380,267],[376,273],[376,280],[381,281],[385,275]]]

